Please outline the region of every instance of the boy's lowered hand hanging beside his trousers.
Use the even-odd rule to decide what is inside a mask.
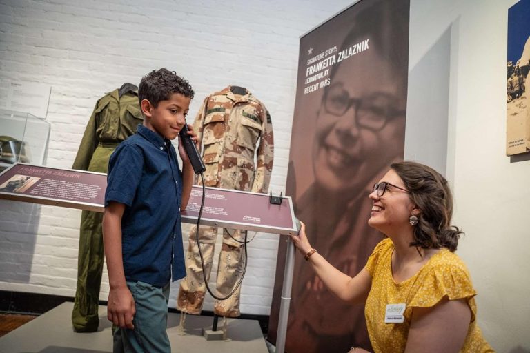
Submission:
[[[107,318],[115,325],[133,330],[136,314],[135,299],[127,286],[110,289],[108,293]]]

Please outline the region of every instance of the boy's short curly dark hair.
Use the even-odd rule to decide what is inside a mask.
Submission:
[[[179,77],[175,71],[161,68],[142,77],[138,87],[138,101],[141,104],[141,101],[147,99],[157,108],[160,101],[166,101],[173,93],[180,93],[190,99],[193,99],[195,94],[190,83]]]

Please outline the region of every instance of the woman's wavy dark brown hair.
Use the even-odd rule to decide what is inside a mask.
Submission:
[[[464,233],[451,225],[453,196],[447,180],[433,168],[416,162],[393,163],[390,168],[400,176],[412,202],[421,210],[410,245],[423,249],[447,248],[454,252]]]

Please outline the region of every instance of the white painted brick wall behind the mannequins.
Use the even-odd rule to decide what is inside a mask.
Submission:
[[[0,0],[0,79],[52,86],[46,165],[56,168],[71,167],[97,99],[150,70],[166,67],[190,81],[192,120],[208,94],[242,85],[271,111],[276,194],[285,192],[299,37],[351,2]],[[0,290],[74,296],[80,215],[0,201]],[[258,234],[248,246],[244,314],[269,313],[277,242]],[[174,283],[172,307],[177,290]]]

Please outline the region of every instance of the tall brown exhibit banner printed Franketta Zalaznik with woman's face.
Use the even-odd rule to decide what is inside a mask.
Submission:
[[[362,0],[300,39],[286,194],[313,248],[355,276],[382,234],[373,184],[404,154],[409,0]],[[279,242],[268,337],[275,342],[286,242]],[[384,313],[382,313],[384,314]],[[371,350],[364,305],[340,301],[296,254],[286,352]]]

